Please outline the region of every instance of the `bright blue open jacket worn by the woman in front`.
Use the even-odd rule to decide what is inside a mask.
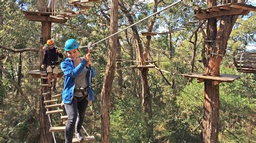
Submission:
[[[74,96],[74,88],[76,83],[76,77],[83,71],[84,67],[86,67],[86,60],[83,59],[77,67],[75,67],[75,62],[70,58],[66,58],[65,61],[60,63],[60,67],[62,68],[65,75],[64,89],[62,92],[62,100],[63,103],[69,104],[72,101]],[[87,67],[86,67],[87,68]],[[91,77],[95,77],[95,69],[91,67]],[[93,91],[90,84],[90,70],[87,70],[86,74],[86,83],[88,86],[88,95],[89,100],[94,100]]]

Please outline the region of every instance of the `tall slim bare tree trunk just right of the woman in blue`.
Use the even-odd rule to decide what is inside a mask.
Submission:
[[[118,28],[118,0],[111,0],[110,34],[116,33]],[[117,55],[117,35],[110,38],[110,51],[107,56],[106,73],[101,93],[100,115],[102,120],[102,140],[110,142],[110,96],[114,78]]]

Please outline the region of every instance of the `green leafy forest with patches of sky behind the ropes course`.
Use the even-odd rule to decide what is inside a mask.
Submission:
[[[173,2],[160,2],[158,9],[163,9],[171,3]],[[37,1],[33,0],[0,2],[0,53],[8,56],[6,60],[0,62],[0,142],[37,142],[39,137],[38,104],[41,85],[39,79],[31,78],[28,74],[30,70],[39,69],[38,53],[20,53],[12,50],[40,47],[41,23],[29,22],[22,13],[22,10],[35,10],[37,4]],[[136,0],[124,1],[124,4],[130,13],[134,13],[134,22],[150,15],[154,7],[153,2]],[[207,8],[206,3],[186,4],[179,4],[157,15],[153,32],[161,33],[188,22],[198,22],[193,17],[193,8],[198,5]],[[121,10],[119,12],[118,24],[121,30],[130,24],[124,13]],[[85,46],[90,41],[97,42],[109,35],[110,2],[97,3],[95,8],[87,13],[89,15],[68,20],[66,25],[52,23],[51,35],[58,47],[63,48],[64,42],[70,38],[77,39],[80,46]],[[152,19],[136,25],[138,31],[147,31],[150,20]],[[221,62],[221,74],[241,77],[232,83],[220,84],[220,142],[256,140],[255,74],[238,73],[233,64],[236,53],[245,50],[255,51],[255,21],[255,12],[238,18],[228,41],[228,50]],[[199,60],[202,59],[201,49],[206,22],[201,20],[200,23],[203,24],[195,23],[181,32],[158,34],[151,39],[150,48],[147,49],[149,59],[156,61],[158,68],[169,71],[163,73],[157,69],[149,70],[148,82],[153,115],[150,123],[153,124],[153,140],[148,139],[144,132],[147,126],[142,112],[140,75],[137,69],[129,68],[136,64],[134,37],[130,29],[118,34],[120,58],[133,62],[122,62],[121,84],[117,76],[113,81],[111,142],[201,140],[204,85],[197,83],[196,80],[189,83],[188,78],[179,75],[191,71],[204,72],[204,65]],[[145,45],[146,37],[140,34],[140,39]],[[100,141],[100,91],[108,50],[109,42],[105,40],[92,51],[93,66],[97,70],[97,76],[93,78],[96,100],[93,102],[93,111],[87,109],[85,127],[90,135],[95,135],[97,141]],[[82,55],[86,52],[87,49],[82,48]],[[22,94],[17,91],[12,81],[21,87]],[[58,79],[59,90],[63,82],[64,77]],[[57,116],[52,116],[52,120],[55,125],[62,124]],[[64,134],[58,133],[57,140],[63,139]]]

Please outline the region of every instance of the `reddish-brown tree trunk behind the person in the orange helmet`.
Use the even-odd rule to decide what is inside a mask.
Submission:
[[[42,22],[42,38],[41,38],[41,46],[39,49],[39,63],[41,66],[43,62],[44,50],[43,46],[48,39],[51,39],[51,22]],[[43,80],[43,84],[48,84],[47,80]],[[47,87],[42,87],[43,91],[47,91]],[[45,96],[46,100],[50,100],[51,97],[49,95]],[[50,121],[48,116],[45,114],[46,110],[44,108],[44,97],[41,95],[41,99],[39,101],[39,121],[40,121],[40,133],[38,142],[52,142],[52,134],[49,132]]]

